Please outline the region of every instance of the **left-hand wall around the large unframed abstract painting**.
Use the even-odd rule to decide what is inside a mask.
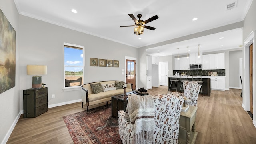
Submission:
[[[13,0],[0,0],[0,9],[16,31],[16,74],[15,87],[0,94],[0,143],[8,140],[20,112],[20,101],[23,100],[20,90],[20,67],[19,67],[19,18],[18,11]]]

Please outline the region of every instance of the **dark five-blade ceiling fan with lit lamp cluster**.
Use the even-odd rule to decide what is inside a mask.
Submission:
[[[149,22],[152,22],[153,20],[156,20],[156,19],[158,19],[159,17],[157,16],[157,15],[155,15],[155,16],[152,16],[151,18],[149,18],[149,19],[147,19],[147,20],[145,20],[145,21],[143,21],[143,20],[140,20],[140,18],[141,18],[141,14],[138,14],[137,15],[137,17],[139,18],[138,20],[135,18],[135,16],[133,15],[133,14],[128,14],[131,18],[132,18],[132,20],[134,20],[134,22],[135,22],[135,25],[130,25],[130,26],[137,26],[137,27],[135,27],[134,28],[134,34],[136,34],[136,35],[141,35],[141,34],[143,34],[143,31],[144,31],[144,28],[147,28],[147,29],[149,29],[149,30],[155,30],[156,28],[154,28],[154,27],[151,27],[151,26],[145,26],[144,24],[147,24],[147,23],[149,23]],[[129,27],[129,26],[120,26],[121,28],[122,27]]]

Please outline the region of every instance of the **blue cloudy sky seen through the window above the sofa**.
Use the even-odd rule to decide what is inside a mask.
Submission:
[[[78,72],[82,67],[68,67],[68,66],[83,66],[83,50],[76,48],[64,47],[64,65],[65,71]]]

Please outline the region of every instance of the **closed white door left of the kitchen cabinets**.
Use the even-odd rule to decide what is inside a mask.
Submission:
[[[168,84],[168,62],[159,62],[160,65],[160,85],[167,86]]]

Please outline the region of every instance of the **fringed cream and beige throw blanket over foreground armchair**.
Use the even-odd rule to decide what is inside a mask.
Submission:
[[[144,140],[154,142],[154,99],[151,95],[139,96],[132,94],[124,118],[134,124],[133,144],[143,144]]]

